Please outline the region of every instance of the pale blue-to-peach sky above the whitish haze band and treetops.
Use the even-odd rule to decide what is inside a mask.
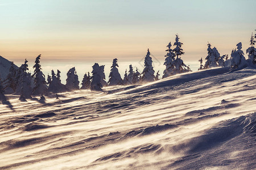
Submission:
[[[207,56],[207,42],[230,54],[249,46],[256,29],[255,0],[86,1],[1,0],[0,55],[32,64],[139,62],[147,48],[160,62],[180,35],[185,62]]]

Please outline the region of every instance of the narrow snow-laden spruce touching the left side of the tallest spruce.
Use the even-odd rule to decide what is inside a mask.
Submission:
[[[166,46],[168,47],[168,49],[166,50],[167,54],[166,56],[166,59],[164,61],[164,65],[166,66],[166,69],[164,70],[163,72],[163,78],[166,78],[168,76],[171,76],[173,74],[173,71],[174,71],[174,60],[175,60],[175,54],[174,52],[172,51],[171,49],[171,42],[169,42],[169,44]]]

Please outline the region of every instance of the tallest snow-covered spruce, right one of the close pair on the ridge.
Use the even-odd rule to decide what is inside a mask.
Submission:
[[[174,42],[174,45],[176,45],[176,47],[173,50],[176,58],[172,62],[172,65],[174,65],[174,69],[172,70],[172,75],[191,71],[189,66],[185,65],[181,57],[179,57],[182,54],[184,54],[183,49],[181,49],[181,45],[183,45],[183,43],[180,42],[179,39],[180,39],[179,36],[176,35],[175,42]]]

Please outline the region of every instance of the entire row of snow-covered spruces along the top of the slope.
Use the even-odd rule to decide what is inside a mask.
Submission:
[[[228,54],[220,55],[217,48],[212,48],[212,45],[208,42],[207,44],[207,57],[203,64],[203,58],[199,59],[200,68],[210,69],[213,67],[230,67],[230,69],[240,69],[246,65],[256,66],[256,50],[255,50],[255,39],[256,34],[251,35],[250,47],[246,49],[248,59],[245,59],[245,54],[242,51],[242,43],[239,42],[237,47],[232,50],[230,58]],[[163,71],[162,78],[167,78],[175,74],[186,73],[191,71],[189,65],[185,65],[181,56],[184,54],[182,49],[183,43],[180,42],[179,35],[176,35],[175,42],[173,44],[169,42],[167,45],[167,54],[164,61],[166,67]],[[146,57],[144,57],[144,69],[142,73],[138,71],[138,68],[134,69],[132,65],[125,71],[123,79],[119,74],[118,59],[114,58],[112,66],[110,67],[109,80],[106,82],[104,73],[105,65],[98,65],[95,63],[92,68],[92,75],[89,72],[84,74],[84,78],[80,82],[79,77],[76,73],[75,67],[68,70],[66,83],[62,84],[60,80],[60,70],[51,71],[51,75],[46,76],[42,72],[40,65],[40,57],[36,57],[35,65],[33,66],[34,74],[28,73],[27,59],[24,63],[16,69],[14,63],[11,63],[9,74],[5,80],[0,82],[0,98],[4,100],[4,94],[15,94],[20,95],[20,100],[26,100],[32,95],[48,95],[51,93],[60,93],[65,91],[73,91],[79,89],[90,89],[93,91],[102,91],[102,87],[106,86],[126,86],[130,84],[141,84],[147,82],[153,82],[159,80],[159,70],[155,73],[152,65],[152,57],[150,50],[147,49]]]

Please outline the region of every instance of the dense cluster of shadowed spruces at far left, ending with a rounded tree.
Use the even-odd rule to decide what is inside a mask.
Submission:
[[[3,86],[1,91],[5,94],[20,95],[20,100],[25,101],[31,96],[35,95],[48,95],[49,92],[60,93],[65,91],[79,89],[79,79],[76,74],[75,67],[69,69],[67,73],[67,83],[64,85],[60,80],[60,71],[57,70],[57,74],[52,70],[51,76],[47,76],[42,72],[40,65],[40,57],[36,57],[35,65],[33,66],[34,74],[27,73],[28,65],[27,59],[18,69],[15,69],[14,63],[11,63],[9,74],[7,78],[3,80]]]

